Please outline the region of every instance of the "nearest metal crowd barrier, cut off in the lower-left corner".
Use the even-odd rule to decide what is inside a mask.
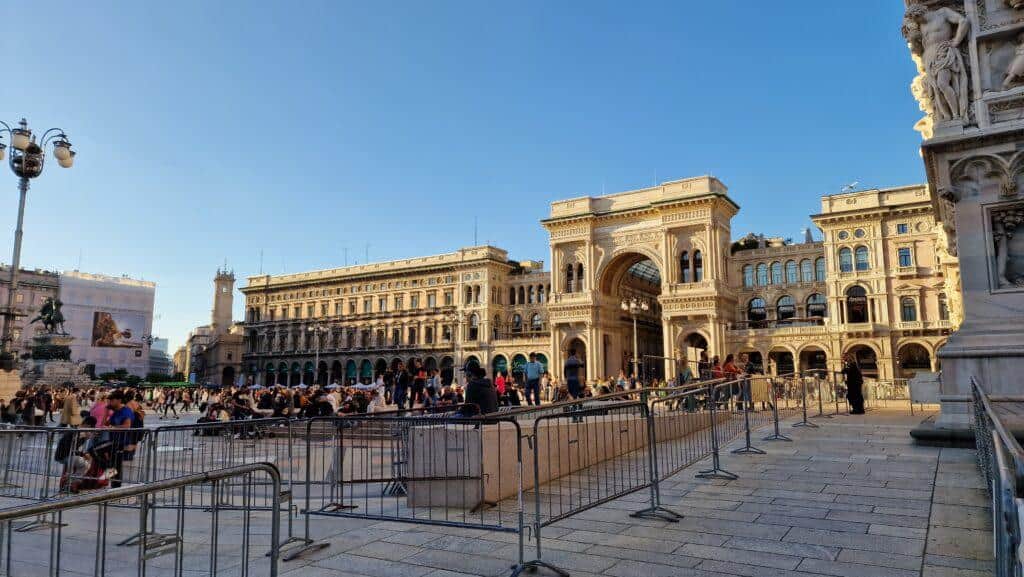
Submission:
[[[199,522],[189,523],[194,519],[189,518],[189,511],[184,506],[184,493],[200,485],[209,485],[211,493],[216,493],[224,483],[238,483],[241,487],[265,483],[272,488],[274,501],[287,496],[281,491],[281,473],[275,466],[250,463],[143,485],[82,493],[58,501],[0,509],[0,575],[58,576],[73,573],[105,577],[130,571],[145,576],[152,571],[174,577],[204,574],[247,577],[252,566],[254,570],[259,570],[260,575],[275,577],[280,558],[279,547],[275,546],[280,540],[279,502],[269,507],[270,521],[266,534],[254,531],[254,522],[259,520],[253,516],[254,508],[248,506],[251,494],[246,490],[243,491],[242,508],[223,511],[214,503],[208,518],[204,513]],[[147,503],[158,500],[157,496],[164,493],[177,493],[175,502],[179,506],[168,524],[172,532],[161,541],[159,548],[147,547],[145,540],[139,540],[134,551],[108,546],[114,531],[128,526],[133,522],[132,518],[139,530],[144,531]],[[135,502],[139,513],[136,516],[134,511],[118,507],[125,502]],[[191,514],[195,517],[195,512]],[[14,529],[14,522],[32,518],[48,521],[48,536],[36,532],[19,533]],[[237,543],[221,544],[222,540],[227,541],[222,537],[222,523],[229,527],[237,525],[241,529]],[[268,535],[266,549],[259,535]],[[259,548],[254,549],[256,546]],[[41,554],[32,555],[27,551]],[[163,555],[173,555],[173,561],[154,561]]]

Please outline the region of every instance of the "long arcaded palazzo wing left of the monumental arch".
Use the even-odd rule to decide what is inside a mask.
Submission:
[[[546,363],[549,275],[492,246],[281,276],[250,277],[245,371],[261,384],[371,379],[399,361],[440,370]]]

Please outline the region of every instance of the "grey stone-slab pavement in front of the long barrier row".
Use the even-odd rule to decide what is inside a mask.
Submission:
[[[663,486],[680,523],[638,520],[637,493],[544,530],[544,558],[574,577],[982,577],[992,574],[988,498],[974,451],[918,447],[905,408],[792,428],[767,455],[723,452],[739,480]],[[756,439],[760,439],[759,435]],[[316,519],[330,548],[288,577],[507,575],[515,535]],[[543,570],[539,575],[547,574]]]

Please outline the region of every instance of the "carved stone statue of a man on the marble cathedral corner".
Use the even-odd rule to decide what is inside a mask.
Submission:
[[[969,119],[967,66],[959,46],[971,23],[956,11],[911,4],[903,16],[903,37],[925,65],[925,84],[935,119]]]

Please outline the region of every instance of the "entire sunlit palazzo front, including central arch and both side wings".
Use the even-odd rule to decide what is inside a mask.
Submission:
[[[926,186],[826,196],[822,240],[733,238],[739,206],[698,176],[554,202],[542,221],[550,271],[493,246],[292,275],[250,277],[243,371],[258,383],[371,378],[399,360],[558,367],[574,348],[589,379],[671,375],[700,351],[749,353],[766,372],[867,376],[939,367],[962,317],[956,258]],[[629,302],[643,303],[629,310]]]

